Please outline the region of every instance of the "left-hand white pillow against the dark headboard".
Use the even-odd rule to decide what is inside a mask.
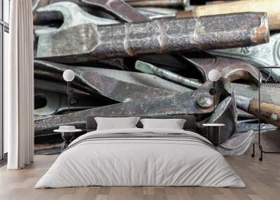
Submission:
[[[140,117],[94,117],[97,130],[137,128],[135,125],[139,119]]]

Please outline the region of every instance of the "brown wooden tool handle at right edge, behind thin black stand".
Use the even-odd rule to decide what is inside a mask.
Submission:
[[[258,116],[258,100],[251,100],[248,106],[248,113]],[[280,127],[280,106],[260,101],[260,119]]]

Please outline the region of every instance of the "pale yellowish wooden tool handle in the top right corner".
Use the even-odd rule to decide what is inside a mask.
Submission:
[[[214,3],[197,6],[193,10],[194,17],[204,15],[219,15],[227,13],[265,12],[269,19],[269,29],[280,29],[280,1],[279,0],[244,0]]]

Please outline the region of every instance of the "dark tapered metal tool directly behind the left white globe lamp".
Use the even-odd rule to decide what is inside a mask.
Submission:
[[[62,80],[62,73],[66,69],[71,69],[76,73],[75,80],[71,84],[73,87],[83,87],[85,91],[88,91],[91,94],[98,92],[104,97],[119,102],[131,101],[131,98],[148,99],[177,94],[177,92],[160,90],[154,87],[126,83],[121,80],[116,80],[115,78],[102,76],[99,73],[90,72],[87,68],[80,68],[77,70],[75,66],[34,61],[34,73],[36,77]],[[48,71],[51,73],[48,73]]]

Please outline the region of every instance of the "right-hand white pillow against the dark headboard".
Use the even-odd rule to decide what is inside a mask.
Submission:
[[[141,119],[144,129],[183,129],[183,119]]]

